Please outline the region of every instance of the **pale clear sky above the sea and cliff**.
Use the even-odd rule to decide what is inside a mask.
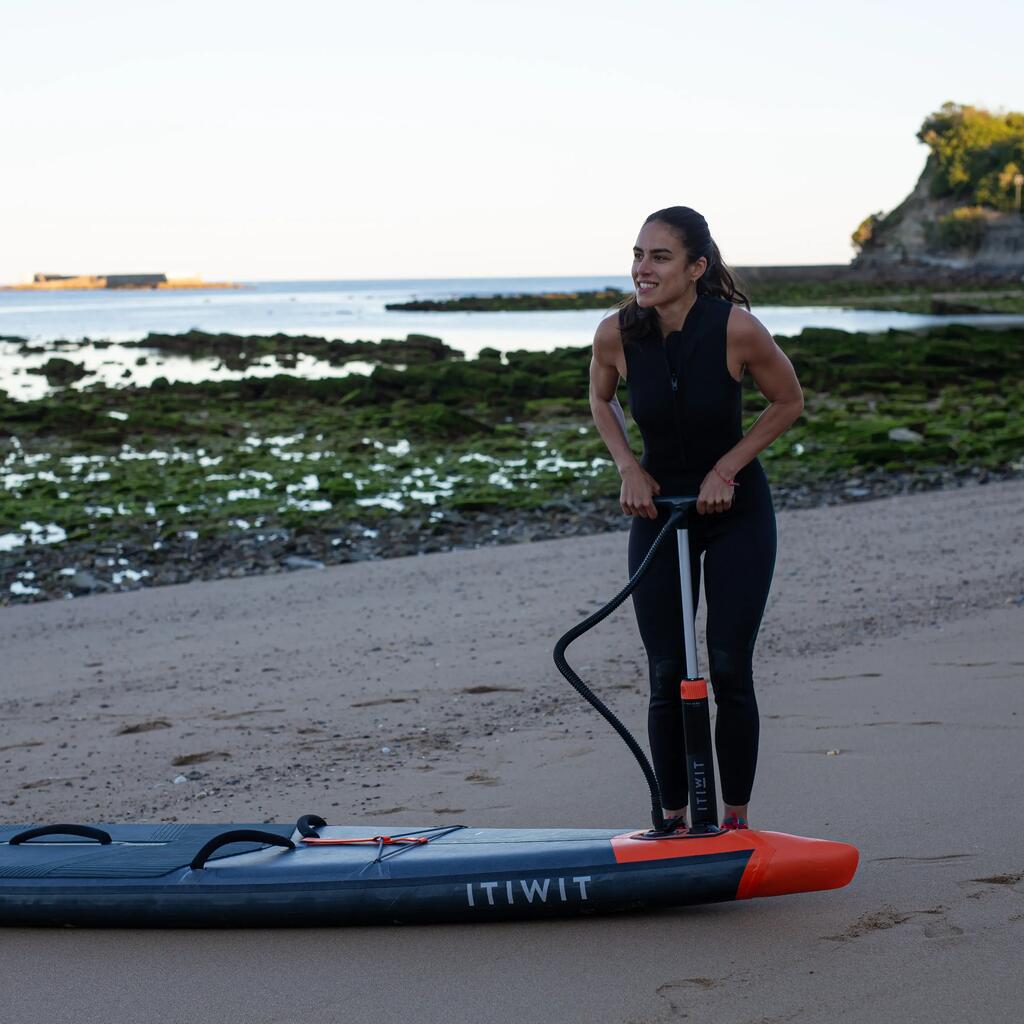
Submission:
[[[945,100],[1024,110],[1024,4],[0,0],[0,282],[845,262]]]

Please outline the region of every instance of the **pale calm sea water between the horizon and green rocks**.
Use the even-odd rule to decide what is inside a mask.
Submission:
[[[153,332],[189,330],[242,335],[311,335],[344,341],[401,339],[409,334],[441,338],[472,358],[482,348],[547,351],[587,345],[608,310],[567,309],[535,312],[413,312],[388,310],[388,303],[411,299],[447,299],[463,295],[542,294],[630,288],[625,275],[583,278],[449,278],[404,281],[250,282],[225,290],[145,290],[92,292],[0,292],[0,337],[24,338],[40,350],[19,351],[19,344],[0,341],[0,388],[18,399],[48,393],[44,377],[27,370],[51,355],[82,364],[90,375],[76,386],[103,382],[112,386],[144,386],[157,377],[171,381],[224,380],[242,376],[291,373],[302,377],[337,377],[367,373],[365,364],[343,367],[300,358],[282,370],[267,359],[244,371],[230,371],[215,358],[189,359],[118,345],[94,348],[75,344],[65,352],[54,342],[67,339],[136,341]],[[844,309],[834,306],[760,306],[755,314],[778,336],[806,327],[844,331],[913,329],[943,323],[1022,323],[1007,315],[929,316],[916,313]],[[145,356],[145,364],[138,364]],[[126,372],[127,371],[127,372]]]

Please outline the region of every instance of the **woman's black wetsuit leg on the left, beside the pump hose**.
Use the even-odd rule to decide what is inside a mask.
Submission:
[[[632,575],[668,518],[635,517],[630,527],[629,568]],[[692,543],[693,604],[700,586],[700,560]],[[650,756],[662,791],[662,806],[685,807],[686,748],[683,740],[683,707],[679,683],[686,674],[683,641],[683,609],[679,593],[679,555],[675,534],[667,537],[640,586],[633,592],[633,608],[640,637],[647,651],[650,703],[647,731]]]

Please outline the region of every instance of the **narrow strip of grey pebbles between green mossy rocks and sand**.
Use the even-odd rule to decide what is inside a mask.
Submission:
[[[777,510],[872,501],[926,490],[984,485],[1018,479],[1018,471],[983,467],[916,473],[873,470],[817,484],[773,486]],[[336,527],[283,526],[237,529],[213,538],[183,530],[168,539],[135,532],[100,544],[33,544],[0,564],[0,605],[82,597],[196,581],[316,570],[346,562],[400,558],[438,551],[524,544],[628,528],[611,498],[566,498],[536,508],[445,512],[377,518],[373,526],[345,522]],[[154,538],[160,536],[161,540]]]

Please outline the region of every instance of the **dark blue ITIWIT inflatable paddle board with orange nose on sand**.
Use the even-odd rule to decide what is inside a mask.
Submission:
[[[379,826],[377,826],[379,827]],[[0,826],[0,925],[494,922],[845,886],[857,851],[772,831],[325,825]]]

